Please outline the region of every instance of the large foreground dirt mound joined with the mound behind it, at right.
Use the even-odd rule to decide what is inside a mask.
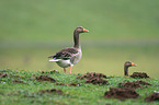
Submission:
[[[118,98],[121,101],[126,98],[137,98],[139,94],[135,91],[135,89],[140,88],[143,85],[151,85],[145,81],[133,81],[133,82],[125,82],[118,83],[120,88],[110,88],[110,91],[105,92],[105,98]]]

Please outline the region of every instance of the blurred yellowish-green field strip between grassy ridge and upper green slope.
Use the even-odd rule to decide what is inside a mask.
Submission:
[[[129,68],[129,74],[135,71],[147,72],[151,78],[159,78],[158,45],[151,45],[152,43],[135,43],[136,45],[129,45],[126,43],[121,45],[122,43],[116,43],[116,45],[114,45],[115,43],[91,43],[93,45],[89,43],[82,43],[83,55],[79,63],[73,66],[72,72],[102,72],[109,75],[123,75],[123,65],[125,61],[130,60],[136,63],[137,67]],[[48,48],[37,47],[1,48],[0,69],[26,71],[47,71],[56,69],[63,72],[63,68],[58,67],[55,62],[49,62],[47,57],[54,55],[59,49],[67,47],[66,44],[60,44],[57,46],[53,45]],[[67,68],[67,70],[69,71],[69,68]]]

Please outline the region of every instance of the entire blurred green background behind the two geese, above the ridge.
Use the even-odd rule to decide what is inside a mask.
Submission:
[[[83,57],[73,73],[123,75],[130,68],[158,78],[158,0],[0,0],[0,69],[63,69],[47,57],[72,46],[72,32],[90,33],[80,42]]]

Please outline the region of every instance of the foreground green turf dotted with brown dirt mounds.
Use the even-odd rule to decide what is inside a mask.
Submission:
[[[1,105],[37,105],[37,104],[54,104],[54,105],[149,105],[149,103],[145,102],[144,98],[148,96],[154,91],[159,91],[158,79],[130,79],[125,77],[112,77],[106,79],[109,81],[109,85],[94,85],[94,84],[86,84],[84,80],[76,79],[77,74],[64,74],[64,73],[53,73],[45,72],[44,74],[48,74],[54,78],[57,82],[63,83],[79,83],[79,86],[64,86],[64,85],[55,85],[50,82],[36,81],[33,75],[41,75],[39,71],[16,71],[16,70],[5,70],[1,72],[5,72],[12,75],[20,75],[20,78],[15,77],[7,77],[0,78],[0,104]],[[25,84],[22,83],[13,83],[13,80],[22,80]],[[148,83],[151,83],[150,86],[144,86],[144,89],[137,89],[136,92],[140,94],[140,97],[137,100],[126,100],[120,101],[115,98],[104,98],[104,92],[109,91],[111,86],[117,88],[117,83],[126,82],[126,81],[135,81],[143,80]],[[58,94],[39,94],[39,90],[47,89],[58,89],[64,92],[63,95]],[[151,105],[159,105],[158,102],[151,103]]]

